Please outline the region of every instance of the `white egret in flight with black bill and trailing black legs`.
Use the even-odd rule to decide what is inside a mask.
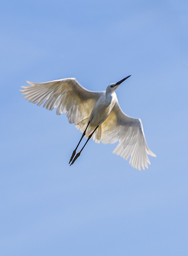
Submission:
[[[29,102],[37,103],[48,110],[57,108],[57,115],[65,113],[69,122],[83,134],[72,153],[69,164],[72,165],[80,156],[90,138],[104,144],[119,142],[113,153],[129,160],[133,168],[148,168],[148,155],[156,155],[148,148],[140,118],[127,116],[120,108],[115,90],[127,76],[117,83],[107,86],[105,91],[87,90],[75,78],[64,78],[44,83],[28,82],[22,86],[22,94]],[[83,137],[87,138],[84,146],[76,154]]]

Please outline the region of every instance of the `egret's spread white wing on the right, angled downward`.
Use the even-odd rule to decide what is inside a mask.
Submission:
[[[139,170],[148,168],[148,155],[156,157],[146,144],[141,119],[127,116],[118,102],[102,124],[101,141],[104,144],[119,141],[113,153],[126,160],[131,156],[129,164]]]

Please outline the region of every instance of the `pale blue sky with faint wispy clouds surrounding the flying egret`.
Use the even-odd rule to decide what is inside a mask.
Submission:
[[[0,254],[188,255],[188,1],[3,1]],[[133,169],[114,144],[22,98],[26,80],[117,90],[157,158]]]

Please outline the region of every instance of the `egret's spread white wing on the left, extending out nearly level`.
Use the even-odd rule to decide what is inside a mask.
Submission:
[[[28,81],[27,81],[28,82]],[[57,115],[65,113],[70,123],[77,125],[88,118],[100,92],[85,89],[75,78],[65,78],[44,83],[28,82],[31,86],[22,86],[24,98],[48,110],[57,108]]]

